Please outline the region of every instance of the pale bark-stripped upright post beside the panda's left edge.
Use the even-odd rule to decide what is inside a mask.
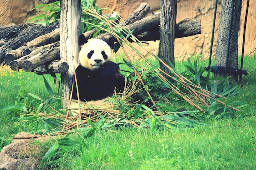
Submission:
[[[67,108],[72,84],[73,66],[79,55],[78,37],[81,33],[81,0],[61,0],[60,54],[61,61],[69,65],[69,70],[61,74],[63,108]],[[67,100],[65,100],[67,99]]]

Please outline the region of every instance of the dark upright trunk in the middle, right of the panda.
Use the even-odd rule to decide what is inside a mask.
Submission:
[[[170,60],[174,62],[174,38],[177,13],[177,0],[161,0],[161,15],[160,15],[160,41],[158,57],[166,64]],[[166,73],[168,68],[160,63],[160,68]]]

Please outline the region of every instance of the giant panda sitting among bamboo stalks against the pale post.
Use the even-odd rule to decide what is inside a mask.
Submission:
[[[87,40],[81,34],[79,46],[81,46],[81,50],[79,63],[75,69],[76,79],[73,78],[72,101],[77,102],[78,99],[76,86],[81,102],[93,101],[91,103],[98,106],[113,95],[115,88],[117,93],[123,92],[126,86],[125,78],[119,73],[118,64],[111,61],[110,47],[114,46],[114,41],[110,40],[106,43],[99,39]],[[148,107],[153,106],[151,102],[144,102],[144,97],[141,95],[134,95],[133,98],[133,101],[139,101]],[[74,108],[74,102],[72,107]]]

